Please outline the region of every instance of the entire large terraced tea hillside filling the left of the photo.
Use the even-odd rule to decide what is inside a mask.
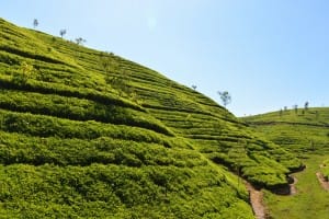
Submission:
[[[4,20],[0,88],[7,218],[253,218],[235,174],[272,189],[302,166],[198,92]]]

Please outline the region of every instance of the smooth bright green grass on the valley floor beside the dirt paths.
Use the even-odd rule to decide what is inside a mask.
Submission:
[[[265,204],[270,210],[271,218],[328,218],[329,194],[324,191],[316,176],[316,172],[320,171],[319,165],[328,158],[328,154],[314,154],[303,160],[306,169],[303,172],[294,174],[298,180],[296,195],[277,196],[270,192],[265,193]]]

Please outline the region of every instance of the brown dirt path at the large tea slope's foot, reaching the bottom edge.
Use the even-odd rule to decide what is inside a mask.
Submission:
[[[252,206],[253,214],[257,219],[265,219],[266,218],[266,208],[263,205],[263,193],[261,191],[256,189],[249,183],[246,184],[249,195],[250,203]]]

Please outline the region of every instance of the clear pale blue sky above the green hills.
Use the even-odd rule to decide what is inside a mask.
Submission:
[[[329,105],[327,0],[0,0],[20,26],[82,37],[152,68],[237,116]]]

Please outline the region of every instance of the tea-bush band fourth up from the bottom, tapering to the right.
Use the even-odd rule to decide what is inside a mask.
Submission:
[[[75,120],[97,120],[143,127],[172,135],[167,127],[144,112],[116,105],[54,94],[0,90],[1,108],[50,115]]]

